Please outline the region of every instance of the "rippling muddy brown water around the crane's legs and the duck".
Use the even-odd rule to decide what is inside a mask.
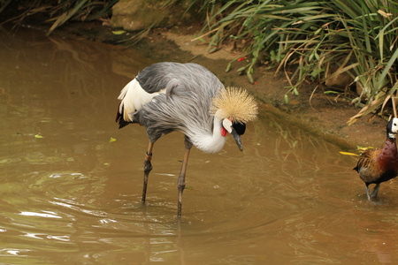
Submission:
[[[231,137],[216,155],[193,148],[180,222],[183,135],[158,140],[143,206],[146,133],[114,117],[120,89],[154,62],[34,30],[0,37],[1,263],[398,262],[394,180],[368,202],[356,158],[266,106],[243,152]]]

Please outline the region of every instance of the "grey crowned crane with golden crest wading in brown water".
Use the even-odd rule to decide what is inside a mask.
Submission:
[[[116,117],[119,128],[131,123],[147,130],[149,147],[144,160],[142,203],[145,202],[154,143],[173,131],[185,134],[185,155],[178,178],[178,216],[181,216],[189,151],[217,153],[229,133],[242,150],[246,123],[257,114],[254,97],[241,88],[228,87],[199,64],[157,63],[140,72],[124,87]]]

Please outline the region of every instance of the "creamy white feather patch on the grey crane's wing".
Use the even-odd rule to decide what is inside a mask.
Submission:
[[[165,94],[165,89],[149,94],[142,89],[137,79],[133,79],[120,91],[118,97],[121,101],[119,113],[122,114],[121,112],[124,108],[123,119],[126,121],[133,121],[134,113],[138,110],[142,110],[146,103],[150,102],[155,96],[161,93]]]

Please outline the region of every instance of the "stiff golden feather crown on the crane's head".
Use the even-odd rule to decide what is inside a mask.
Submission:
[[[248,91],[239,87],[226,87],[220,90],[212,101],[210,113],[216,112],[221,118],[231,118],[233,122],[247,123],[258,113],[256,100]]]

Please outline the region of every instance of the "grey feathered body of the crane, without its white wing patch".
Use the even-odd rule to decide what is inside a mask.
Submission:
[[[149,94],[165,89],[134,113],[133,122],[145,126],[150,142],[180,131],[205,153],[216,153],[224,146],[224,139],[208,148],[200,143],[203,136],[212,136],[211,100],[225,88],[212,72],[199,64],[158,63],[146,67],[135,79]]]

